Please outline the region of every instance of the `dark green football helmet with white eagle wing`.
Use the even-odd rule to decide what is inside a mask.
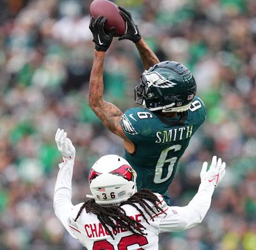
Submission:
[[[183,112],[196,94],[191,71],[181,63],[164,61],[145,70],[134,89],[136,103],[150,111]]]

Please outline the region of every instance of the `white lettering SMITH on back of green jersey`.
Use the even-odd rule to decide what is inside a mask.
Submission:
[[[157,131],[156,143],[175,142],[176,140],[184,140],[193,135],[193,125],[174,128],[169,130]]]

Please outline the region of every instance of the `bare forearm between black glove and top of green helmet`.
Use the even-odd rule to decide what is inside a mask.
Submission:
[[[156,54],[154,54],[154,52],[148,47],[143,38],[141,38],[141,40],[135,44],[140,53],[140,57],[145,70],[148,70],[148,68],[154,64],[159,63],[159,59],[157,58]]]

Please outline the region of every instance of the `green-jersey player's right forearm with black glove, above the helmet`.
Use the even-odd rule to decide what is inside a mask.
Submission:
[[[141,37],[138,26],[136,26],[136,24],[134,24],[134,21],[132,20],[131,13],[120,6],[118,8],[120,9],[120,15],[124,17],[127,23],[127,32],[118,40],[127,39],[133,41],[140,53],[140,57],[145,70],[148,70],[148,68],[150,68],[154,64],[159,63],[159,59]]]

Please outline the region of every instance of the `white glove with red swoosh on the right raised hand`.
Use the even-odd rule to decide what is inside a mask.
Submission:
[[[212,163],[208,171],[207,166],[208,163],[205,161],[200,173],[201,182],[206,181],[212,183],[216,187],[225,175],[226,163],[224,161],[222,162],[221,158],[218,158],[217,161],[217,156],[213,156]]]

